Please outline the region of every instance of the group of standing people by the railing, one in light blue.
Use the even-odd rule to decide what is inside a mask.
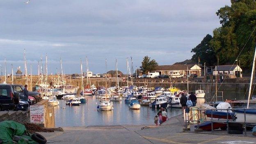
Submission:
[[[190,96],[187,98],[187,96],[185,96],[184,93],[181,94],[181,106],[182,106],[182,110],[184,111],[186,109],[186,107],[194,107],[197,104],[197,96],[191,92]]]

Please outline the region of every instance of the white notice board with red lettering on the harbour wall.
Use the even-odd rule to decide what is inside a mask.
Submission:
[[[30,105],[30,122],[41,123],[44,122],[44,106]]]

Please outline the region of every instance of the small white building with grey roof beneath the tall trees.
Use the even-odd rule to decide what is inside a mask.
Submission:
[[[242,78],[242,69],[238,65],[221,65],[213,69],[213,75],[233,75]]]

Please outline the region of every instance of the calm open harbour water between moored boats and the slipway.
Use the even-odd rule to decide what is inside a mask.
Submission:
[[[87,96],[87,102],[80,106],[65,105],[59,100],[55,107],[55,126],[93,126],[93,125],[141,125],[154,124],[154,117],[159,109],[141,106],[140,110],[131,110],[122,101],[113,101],[114,110],[97,111],[99,100],[95,96]],[[64,107],[66,109],[64,109]],[[168,117],[181,114],[181,109],[168,108]]]

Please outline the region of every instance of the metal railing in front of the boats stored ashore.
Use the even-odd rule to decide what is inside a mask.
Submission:
[[[246,112],[245,110],[256,110],[256,108],[230,108],[230,109],[218,109],[218,110],[226,110],[227,112],[227,120],[226,121],[214,121],[213,120],[213,111],[216,110],[210,110],[211,111],[211,120],[202,120],[202,111],[206,111],[208,109],[196,109],[196,110],[190,110],[190,111],[197,111],[197,120],[187,120],[187,113],[189,113],[190,111],[185,110],[185,126],[187,128],[187,123],[190,122],[197,122],[197,128],[199,128],[199,123],[201,122],[211,122],[211,133],[213,133],[213,123],[214,122],[218,122],[218,123],[226,123],[227,124],[227,133],[229,133],[229,123],[243,123],[244,127],[245,127],[245,135],[247,134],[247,130],[246,130],[246,124],[250,124],[250,123],[254,123],[256,124],[256,121],[246,121]],[[244,110],[244,121],[243,122],[239,122],[239,121],[230,121],[229,120],[229,111],[230,110]],[[223,112],[223,111],[222,111]],[[200,117],[199,117],[200,114]]]

